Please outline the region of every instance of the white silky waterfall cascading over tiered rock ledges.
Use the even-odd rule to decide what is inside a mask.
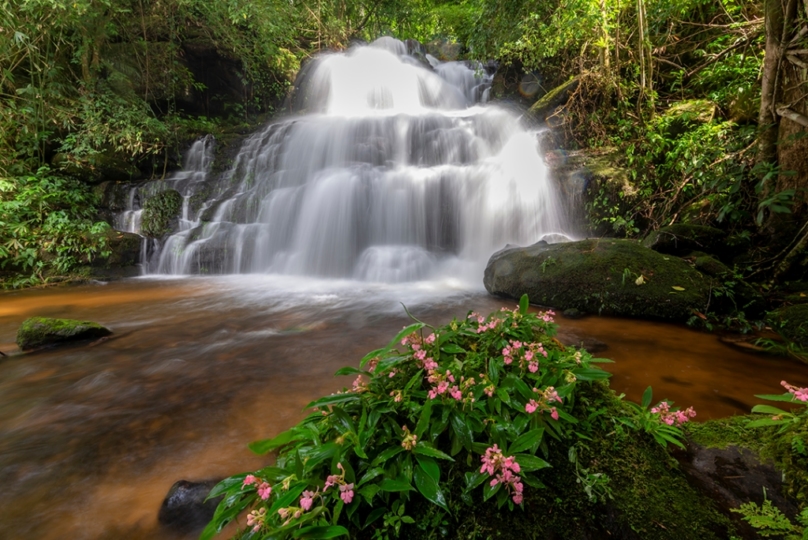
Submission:
[[[478,281],[505,244],[563,236],[536,134],[478,104],[490,76],[406,52],[382,38],[315,60],[297,85],[304,114],[253,135],[216,180],[197,142],[164,182],[183,217],[149,271]]]

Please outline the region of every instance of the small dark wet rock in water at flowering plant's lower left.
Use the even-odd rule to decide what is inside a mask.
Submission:
[[[180,480],[168,490],[160,506],[158,521],[183,533],[202,530],[213,518],[221,497],[205,501],[219,480],[189,482]]]

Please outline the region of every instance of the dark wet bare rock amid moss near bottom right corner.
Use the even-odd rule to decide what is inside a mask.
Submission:
[[[763,503],[766,497],[793,520],[797,508],[784,498],[783,475],[773,465],[761,463],[751,450],[728,446],[706,448],[688,442],[687,450],[674,452],[688,481],[716,502],[719,510],[735,522],[742,538],[759,538],[756,530],[731,509],[749,501]]]

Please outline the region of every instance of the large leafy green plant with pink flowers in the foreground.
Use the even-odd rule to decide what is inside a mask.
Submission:
[[[524,296],[514,310],[440,328],[416,320],[359,368],[337,372],[356,376],[352,389],[250,445],[276,451],[275,465],[218,484],[210,497],[223,499],[202,538],[246,511],[238,538],[334,538],[349,528],[378,535],[418,497],[449,516],[476,493],[521,505],[551,466],[545,435],[586,431],[572,415],[576,387],[609,377],[593,365],[608,360],[553,337],[552,317],[529,312]],[[452,471],[464,479],[459,497],[448,491]]]

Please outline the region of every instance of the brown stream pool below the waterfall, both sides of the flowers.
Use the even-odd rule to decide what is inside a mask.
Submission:
[[[0,357],[0,538],[178,539],[157,511],[179,479],[262,466],[246,444],[277,434],[332,377],[408,322],[513,302],[446,284],[386,287],[261,277],[132,280],[0,295],[0,351],[42,315],[101,322],[110,339]],[[731,349],[714,335],[643,321],[561,320],[616,360],[612,386],[693,405],[698,419],[748,412],[808,367]]]

